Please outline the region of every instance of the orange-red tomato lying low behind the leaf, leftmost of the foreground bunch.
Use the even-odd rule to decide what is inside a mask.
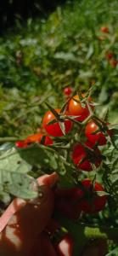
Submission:
[[[44,136],[44,134],[42,134],[42,133],[32,134],[31,136],[28,136],[25,139],[25,143],[26,144],[41,143],[43,136]],[[45,146],[52,145],[53,144],[53,140],[51,139],[51,137],[46,136],[43,144]]]

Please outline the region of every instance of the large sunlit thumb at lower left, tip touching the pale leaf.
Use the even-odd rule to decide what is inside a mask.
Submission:
[[[58,179],[54,172],[37,179],[42,197],[26,202],[14,199],[0,218],[0,255],[29,256],[37,236],[48,224],[53,212],[51,187]]]

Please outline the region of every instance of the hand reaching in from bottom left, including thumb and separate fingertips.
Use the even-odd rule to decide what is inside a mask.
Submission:
[[[26,202],[14,199],[0,218],[0,255],[3,256],[72,256],[70,244],[62,240],[60,253],[56,253],[48,234],[44,231],[53,226],[53,192],[51,188],[58,175],[43,175],[37,179],[42,197]],[[102,241],[99,241],[102,242]],[[106,242],[105,242],[106,244]],[[104,256],[106,246],[85,247],[81,256]]]

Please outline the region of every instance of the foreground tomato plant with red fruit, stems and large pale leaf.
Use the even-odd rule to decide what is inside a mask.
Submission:
[[[90,91],[87,92],[87,95],[89,94]],[[50,190],[51,193],[53,192],[53,213],[50,224],[44,229],[43,241],[44,244],[48,242],[49,245],[56,241],[58,234],[60,239],[57,243],[53,242],[54,248],[52,248],[53,252],[55,249],[60,256],[81,255],[87,239],[97,239],[103,237],[103,234],[106,238],[114,239],[113,230],[110,228],[104,231],[101,231],[99,226],[97,229],[92,227],[87,229],[87,221],[91,220],[94,224],[90,214],[103,210],[105,212],[107,209],[109,215],[109,207],[112,203],[117,207],[118,199],[115,175],[118,162],[117,144],[115,144],[117,125],[110,125],[105,121],[107,115],[103,118],[98,117],[94,109],[95,105],[91,97],[86,97],[84,94],[81,94],[81,99],[76,95],[65,101],[62,108],[53,109],[47,103],[49,109],[42,119],[40,132],[25,137],[24,141],[17,141],[16,147],[11,146],[10,149],[7,144],[1,148],[1,172],[4,170],[8,172],[5,179],[3,176],[1,187],[9,189],[6,190],[9,191],[9,195],[19,196],[25,200],[36,198],[39,195],[37,189],[39,173],[46,174],[43,177],[45,185],[53,186],[52,191]],[[66,136],[69,132],[70,134]],[[45,147],[47,145],[52,147]],[[105,147],[99,147],[102,145]],[[7,147],[6,152],[4,147]],[[22,170],[25,170],[25,173]],[[32,175],[36,170],[35,175]],[[57,172],[56,176],[55,172]],[[50,173],[55,176],[53,183],[48,182]],[[37,181],[34,177],[37,177]],[[40,178],[42,184],[42,177]],[[14,179],[15,186],[12,183]],[[32,183],[33,187],[35,184],[35,189],[32,189]],[[104,212],[101,212],[102,218]],[[98,219],[97,216],[95,218]],[[62,236],[62,230],[67,235]],[[117,234],[118,229],[115,237]],[[72,240],[66,239],[68,235],[72,236]],[[48,249],[44,247],[43,252],[47,253],[47,251]]]

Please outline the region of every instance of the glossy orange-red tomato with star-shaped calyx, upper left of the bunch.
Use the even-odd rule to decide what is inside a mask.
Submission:
[[[60,109],[55,109],[57,111],[57,113],[60,112]],[[66,115],[68,115],[68,112],[65,112]],[[53,137],[62,137],[64,136],[63,132],[61,131],[60,127],[59,127],[59,123],[58,121],[52,125],[48,125],[48,123],[50,121],[52,121],[53,119],[55,119],[55,116],[53,115],[53,113],[51,111],[48,111],[47,113],[45,113],[43,121],[42,121],[42,125],[44,127],[44,129],[48,132],[49,135],[53,136]],[[65,133],[68,133],[71,128],[72,128],[72,122],[70,120],[65,120]]]

